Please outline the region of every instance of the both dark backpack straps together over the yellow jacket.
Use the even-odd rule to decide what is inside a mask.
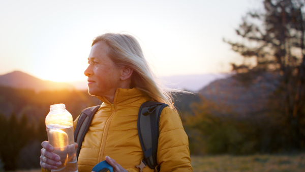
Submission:
[[[74,140],[78,144],[76,149],[77,159],[85,134],[90,126],[90,123],[92,122],[94,114],[98,111],[100,106],[101,105],[88,107],[80,113],[74,131]],[[165,103],[147,101],[140,106],[138,114],[138,134],[144,153],[144,159],[141,161],[141,164],[144,163],[145,166],[148,165],[149,168],[156,169],[158,171],[160,170],[160,166],[157,164],[159,119],[161,111],[166,106],[168,105]],[[144,166],[137,167],[143,168]]]

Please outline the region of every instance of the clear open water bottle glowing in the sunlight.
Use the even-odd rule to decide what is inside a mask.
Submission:
[[[54,148],[53,153],[60,156],[60,165],[52,171],[78,171],[73,135],[73,118],[66,110],[65,104],[53,104],[46,117],[48,141]]]

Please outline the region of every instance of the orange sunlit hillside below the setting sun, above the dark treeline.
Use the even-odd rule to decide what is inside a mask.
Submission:
[[[0,114],[9,117],[25,114],[31,121],[37,122],[45,118],[50,105],[64,103],[66,109],[75,119],[86,107],[101,104],[95,96],[90,96],[87,91],[56,90],[35,92],[29,89],[16,89],[0,85]]]

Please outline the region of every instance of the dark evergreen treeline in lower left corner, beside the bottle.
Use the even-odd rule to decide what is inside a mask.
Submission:
[[[44,121],[36,124],[27,116],[0,114],[0,155],[6,170],[39,167],[41,142],[47,140]]]

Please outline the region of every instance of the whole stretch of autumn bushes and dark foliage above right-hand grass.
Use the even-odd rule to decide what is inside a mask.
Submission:
[[[289,125],[279,124],[273,116],[241,118],[228,106],[204,98],[192,108],[194,115],[184,120],[192,155],[293,151],[287,139]]]

